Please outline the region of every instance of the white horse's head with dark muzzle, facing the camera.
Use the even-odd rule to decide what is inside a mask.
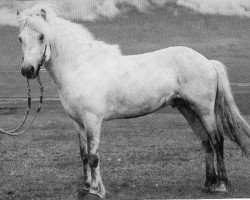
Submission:
[[[19,40],[22,45],[23,62],[21,73],[28,79],[36,78],[41,66],[50,60],[50,28],[47,12],[41,8],[36,12],[18,13],[20,17]]]

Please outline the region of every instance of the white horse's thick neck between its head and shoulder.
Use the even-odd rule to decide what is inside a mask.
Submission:
[[[87,30],[63,19],[51,20],[50,25],[54,34],[50,41],[52,55],[46,69],[60,89],[72,79],[70,72],[83,67],[94,39]],[[76,64],[79,59],[83,63],[81,66]]]

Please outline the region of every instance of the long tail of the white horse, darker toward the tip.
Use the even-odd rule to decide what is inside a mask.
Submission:
[[[217,94],[215,100],[215,117],[218,131],[236,143],[248,155],[248,150],[242,141],[242,135],[250,137],[250,125],[241,115],[235,104],[227,71],[219,61],[212,61],[217,72]]]

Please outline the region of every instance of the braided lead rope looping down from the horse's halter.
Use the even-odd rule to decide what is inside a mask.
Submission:
[[[40,85],[40,93],[41,93],[41,95],[40,95],[40,102],[39,102],[40,104],[39,104],[39,107],[38,107],[38,109],[37,109],[37,111],[36,111],[36,114],[35,114],[35,116],[34,116],[32,122],[30,123],[30,125],[29,125],[28,127],[26,127],[24,130],[20,131],[20,129],[24,126],[25,122],[27,121],[28,116],[29,116],[29,114],[30,114],[30,109],[31,109],[31,94],[30,94],[31,89],[30,89],[29,80],[27,79],[27,87],[28,87],[28,108],[27,108],[27,110],[26,110],[26,115],[25,115],[25,117],[24,117],[22,123],[20,123],[20,125],[19,125],[17,128],[15,128],[15,129],[13,129],[13,130],[10,130],[10,131],[6,131],[6,130],[3,130],[3,129],[0,128],[0,133],[6,134],[6,135],[10,135],[10,136],[18,136],[18,135],[24,133],[25,131],[27,131],[27,129],[29,129],[29,128],[31,127],[31,125],[34,123],[34,121],[35,121],[35,119],[36,119],[36,117],[37,117],[38,113],[40,112],[40,110],[41,110],[41,108],[42,108],[42,105],[43,105],[43,91],[44,91],[44,88],[43,88],[42,82],[41,82],[41,80],[40,80],[39,74],[38,74],[38,76],[37,76],[37,82],[38,82],[38,84]]]

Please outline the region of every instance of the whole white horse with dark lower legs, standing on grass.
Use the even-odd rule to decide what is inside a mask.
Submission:
[[[201,139],[205,186],[227,191],[223,135],[247,152],[241,135],[250,136],[250,126],[235,105],[223,64],[182,46],[122,55],[118,46],[97,41],[86,28],[58,17],[46,4],[19,16],[22,74],[35,78],[44,65],[56,84],[78,129],[89,193],[105,197],[98,151],[102,122],[143,116],[166,105],[176,107]]]

